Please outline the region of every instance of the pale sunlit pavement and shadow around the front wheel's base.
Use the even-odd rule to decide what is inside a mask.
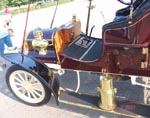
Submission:
[[[7,67],[10,66],[7,63]],[[6,69],[7,70],[7,69]],[[0,118],[85,118],[86,115],[59,108],[54,98],[46,105],[32,107],[18,101],[5,82],[5,71],[0,72]]]

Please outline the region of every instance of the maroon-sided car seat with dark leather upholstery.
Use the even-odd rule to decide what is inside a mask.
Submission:
[[[118,46],[147,42],[150,36],[150,0],[143,1],[134,10],[131,24],[128,21],[129,15],[104,25],[102,35],[105,44]]]

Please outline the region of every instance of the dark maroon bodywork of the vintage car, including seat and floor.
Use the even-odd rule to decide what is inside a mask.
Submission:
[[[119,14],[119,11],[117,13]],[[129,23],[129,17],[125,13],[121,16],[116,15],[113,22],[103,26],[102,39],[89,36],[91,44],[85,48],[77,45],[78,40],[86,37],[85,34],[81,34],[74,42],[68,43],[69,46],[58,56],[55,45],[48,47],[47,55],[38,55],[38,52],[32,49],[31,31],[27,37],[30,47],[28,56],[44,63],[60,64],[63,69],[98,73],[107,70],[108,73],[150,76],[149,57],[146,60],[146,55],[142,54],[142,50],[149,49],[150,44],[150,1],[146,0],[133,11],[132,23]],[[52,44],[55,32],[59,29],[66,27],[43,29],[43,38]],[[143,68],[141,63],[145,61],[147,66]]]

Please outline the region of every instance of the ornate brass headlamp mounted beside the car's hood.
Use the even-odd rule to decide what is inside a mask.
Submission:
[[[48,47],[48,41],[43,39],[43,32],[40,27],[37,27],[35,31],[33,32],[34,39],[32,41],[33,49],[39,51],[40,55],[46,55]]]

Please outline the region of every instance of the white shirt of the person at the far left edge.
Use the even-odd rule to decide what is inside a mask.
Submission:
[[[7,17],[3,14],[0,14],[0,39],[9,35],[8,30],[5,27],[6,20],[7,20]]]

